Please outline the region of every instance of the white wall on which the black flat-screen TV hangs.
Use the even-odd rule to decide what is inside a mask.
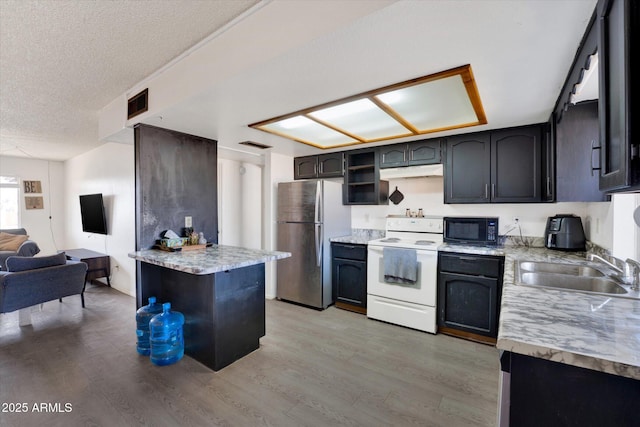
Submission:
[[[135,296],[134,147],[107,143],[65,162],[68,248],[85,248],[111,257],[111,286]],[[108,235],[85,233],[80,219],[81,194],[102,193]]]

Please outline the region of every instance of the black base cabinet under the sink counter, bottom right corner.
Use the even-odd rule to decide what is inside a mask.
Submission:
[[[637,426],[640,381],[505,351],[500,427]]]

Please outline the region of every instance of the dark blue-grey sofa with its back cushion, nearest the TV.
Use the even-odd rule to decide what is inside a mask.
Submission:
[[[80,295],[84,308],[87,264],[68,261],[64,252],[43,257],[7,258],[0,271],[0,313],[21,310],[47,301]],[[21,321],[21,324],[23,322]]]

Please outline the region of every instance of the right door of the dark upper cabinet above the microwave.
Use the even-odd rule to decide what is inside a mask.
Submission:
[[[491,201],[540,202],[542,129],[526,126],[491,132]]]

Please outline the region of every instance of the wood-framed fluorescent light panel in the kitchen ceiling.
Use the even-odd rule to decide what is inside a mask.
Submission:
[[[465,65],[249,125],[318,148],[486,124]]]

